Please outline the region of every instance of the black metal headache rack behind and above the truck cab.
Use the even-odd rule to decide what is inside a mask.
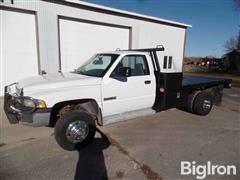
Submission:
[[[125,50],[120,50],[117,49],[116,51],[141,51],[141,52],[148,52],[151,59],[152,59],[152,63],[153,63],[153,68],[154,68],[154,72],[155,75],[157,73],[160,72],[160,65],[159,65],[159,61],[158,61],[158,56],[157,56],[157,52],[158,51],[164,51],[165,48],[163,47],[163,45],[157,45],[156,48],[144,48],[144,49],[125,49]]]

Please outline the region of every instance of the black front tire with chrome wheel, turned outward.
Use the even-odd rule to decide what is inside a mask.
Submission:
[[[79,150],[89,144],[96,133],[94,119],[85,112],[70,111],[60,117],[54,128],[57,143],[68,151]]]

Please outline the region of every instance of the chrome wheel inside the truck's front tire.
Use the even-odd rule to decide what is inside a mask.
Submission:
[[[74,121],[68,125],[66,137],[71,143],[82,142],[88,135],[89,128],[84,121]]]

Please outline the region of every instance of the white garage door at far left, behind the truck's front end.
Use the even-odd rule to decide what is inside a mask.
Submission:
[[[4,86],[38,74],[35,15],[0,10],[0,79]]]

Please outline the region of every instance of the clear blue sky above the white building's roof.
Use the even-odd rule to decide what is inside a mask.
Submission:
[[[224,42],[236,36],[240,10],[232,0],[88,0],[88,2],[175,20],[193,27],[187,32],[187,56],[218,56]]]

